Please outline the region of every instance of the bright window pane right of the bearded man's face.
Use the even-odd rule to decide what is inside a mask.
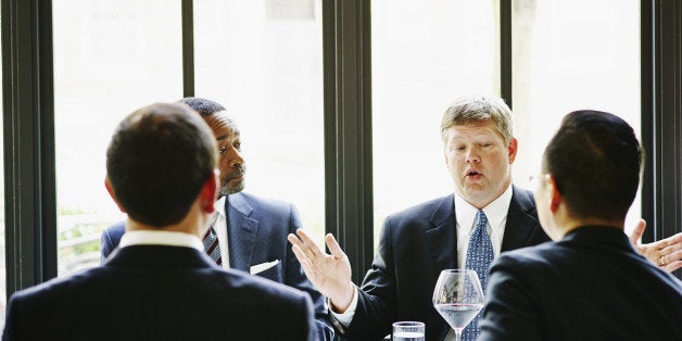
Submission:
[[[195,96],[241,130],[245,191],[296,205],[321,242],[320,0],[194,0]]]

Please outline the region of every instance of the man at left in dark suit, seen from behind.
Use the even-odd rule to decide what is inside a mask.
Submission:
[[[312,340],[307,294],[222,269],[203,252],[216,161],[209,126],[187,105],[124,118],[105,185],[128,232],[102,266],[16,292],[3,340]]]

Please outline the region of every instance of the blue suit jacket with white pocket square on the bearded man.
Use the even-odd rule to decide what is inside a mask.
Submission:
[[[230,267],[249,273],[252,265],[280,260],[278,265],[256,275],[307,292],[315,306],[318,340],[331,340],[333,329],[327,318],[324,299],[303,274],[287,240],[288,233],[301,228],[295,207],[290,203],[239,192],[228,195],[225,213]],[[118,245],[124,232],[123,222],[102,232],[102,258]]]

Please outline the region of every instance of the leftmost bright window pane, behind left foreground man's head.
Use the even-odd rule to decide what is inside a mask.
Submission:
[[[105,151],[134,110],[182,97],[180,2],[53,1],[59,274],[97,265],[123,219],[104,189]]]

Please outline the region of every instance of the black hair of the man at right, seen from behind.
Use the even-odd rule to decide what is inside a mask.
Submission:
[[[640,184],[643,151],[632,127],[599,111],[576,111],[561,122],[543,156],[569,212],[624,219]]]

